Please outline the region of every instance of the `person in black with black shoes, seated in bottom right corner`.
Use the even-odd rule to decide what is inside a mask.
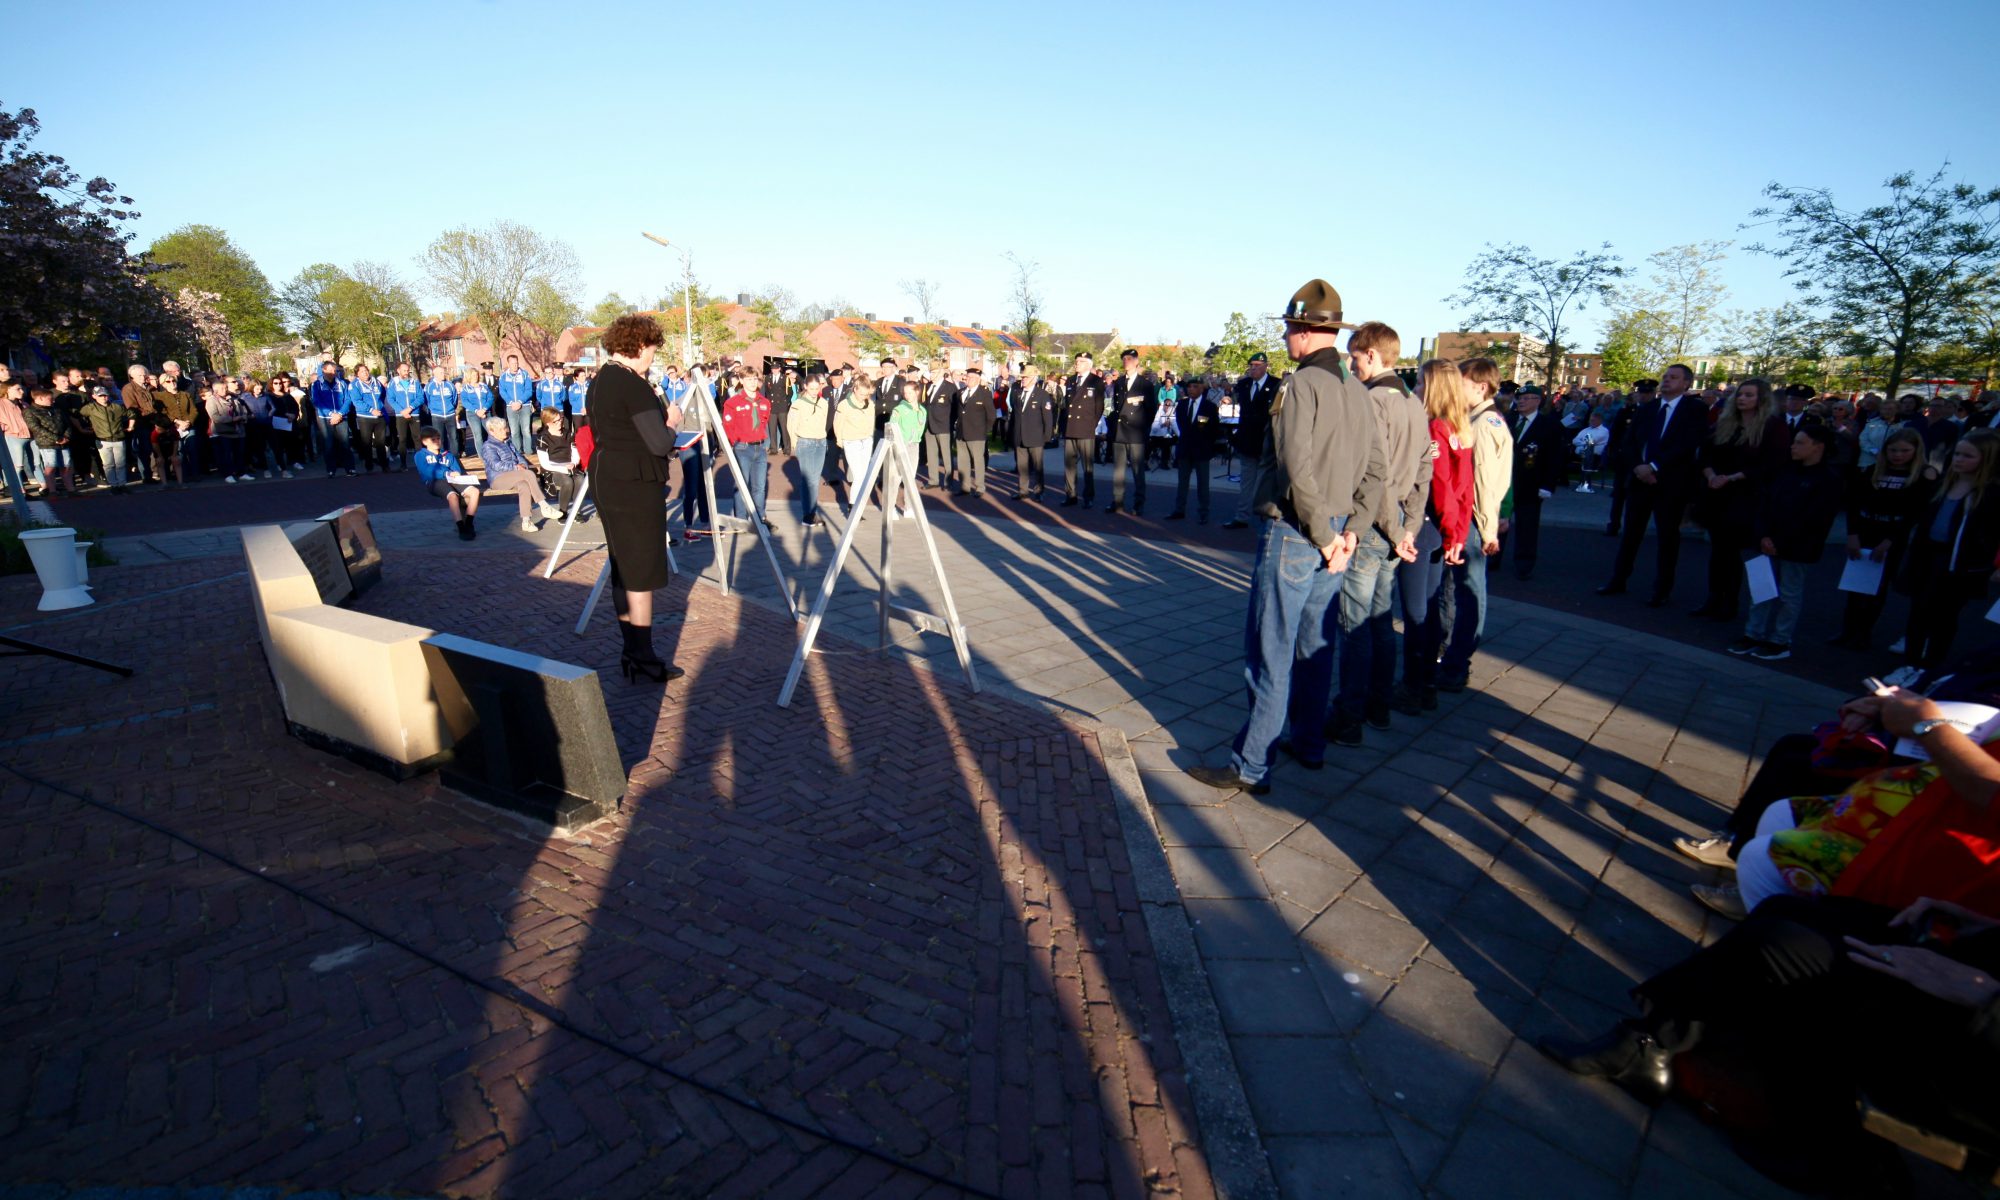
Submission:
[[[1840,1196],[1900,1196],[1856,1100],[1928,1132],[2000,1142],[2000,924],[1916,898],[1902,910],[1784,896],[1632,990],[1642,1014],[1536,1048],[1646,1104],[1694,1100],[1766,1174]]]

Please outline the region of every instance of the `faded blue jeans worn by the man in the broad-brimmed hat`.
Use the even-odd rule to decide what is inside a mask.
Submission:
[[[1336,524],[1344,528],[1346,520]],[[1292,752],[1308,762],[1324,756],[1338,594],[1340,572],[1326,570],[1318,546],[1282,520],[1264,524],[1256,566],[1250,570],[1250,614],[1244,622],[1250,720],[1236,734],[1230,754],[1230,768],[1244,782],[1254,784],[1270,772],[1288,720]]]

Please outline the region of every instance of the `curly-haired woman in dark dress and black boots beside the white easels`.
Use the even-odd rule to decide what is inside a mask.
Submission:
[[[610,362],[590,380],[590,498],[604,518],[612,560],[612,608],[626,682],[666,682],[682,672],[652,648],[652,594],[666,586],[666,466],[674,458],[680,406],[662,404],[646,382],[666,338],[650,316],[628,314],[604,330]]]

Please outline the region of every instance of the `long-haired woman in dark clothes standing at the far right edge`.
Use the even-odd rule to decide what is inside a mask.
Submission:
[[[1944,484],[1916,520],[1904,582],[1910,622],[1904,652],[1910,666],[1930,670],[1944,662],[1958,636],[1958,616],[1986,592],[2000,554],[2000,434],[1972,430],[1952,448]]]

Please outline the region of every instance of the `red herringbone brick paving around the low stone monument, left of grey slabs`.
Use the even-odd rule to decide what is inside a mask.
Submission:
[[[596,562],[392,552],[364,606],[604,666]],[[0,662],[6,1182],[1210,1194],[1092,736],[866,654],[780,710],[790,626],[676,582],[624,810],[544,838],[286,738],[238,568],[0,582],[140,668]]]

